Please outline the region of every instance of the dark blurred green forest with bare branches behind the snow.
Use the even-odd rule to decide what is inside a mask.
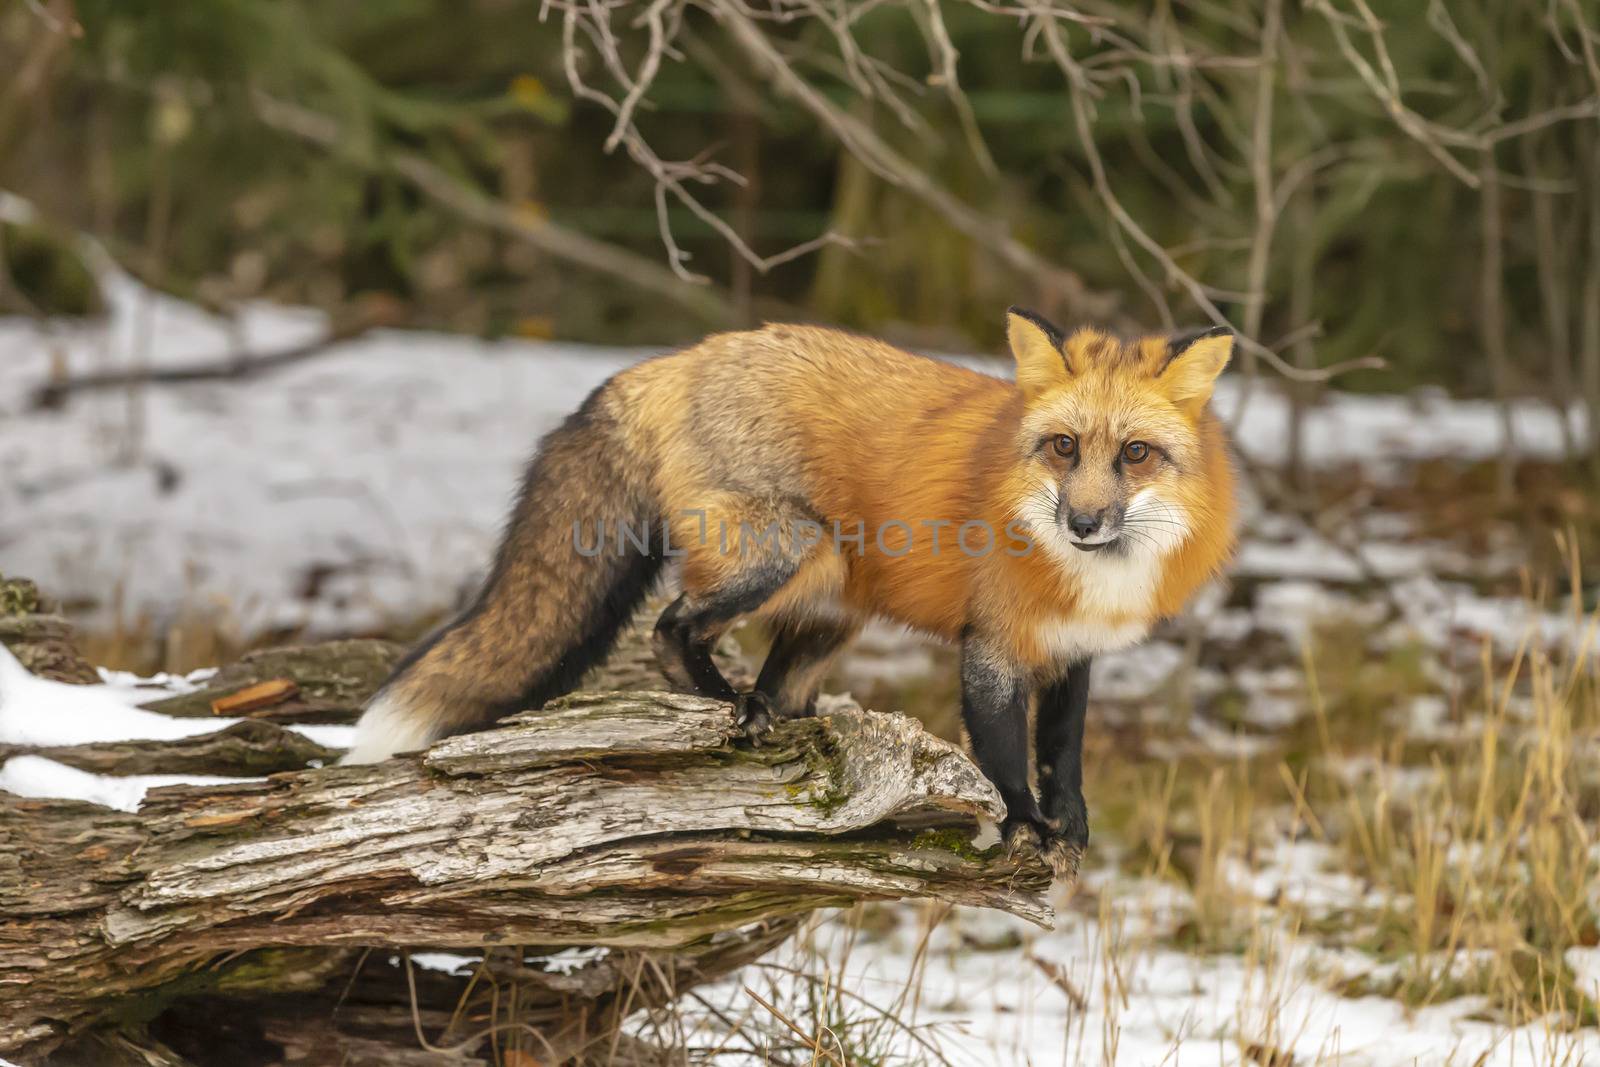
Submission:
[[[1246,370],[1341,387],[1594,405],[1597,27],[1587,0],[10,0],[0,189],[38,218],[0,234],[0,301],[93,312],[90,234],[221,310],[992,350],[1021,302],[1226,318]]]

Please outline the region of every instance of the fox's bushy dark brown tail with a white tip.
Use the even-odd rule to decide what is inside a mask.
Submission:
[[[539,442],[477,600],[373,696],[346,763],[539,707],[611,651],[664,561],[661,512],[613,403],[602,386]]]

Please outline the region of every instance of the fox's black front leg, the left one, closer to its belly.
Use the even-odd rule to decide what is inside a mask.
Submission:
[[[962,721],[973,747],[978,769],[994,782],[1005,801],[1002,833],[1006,845],[1032,829],[1040,843],[1050,838],[1050,824],[1027,785],[1027,701],[1026,675],[997,656],[979,638],[962,640]]]

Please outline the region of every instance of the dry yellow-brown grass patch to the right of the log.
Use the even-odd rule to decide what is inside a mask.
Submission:
[[[1091,795],[1134,798],[1109,833],[1123,870],[1189,896],[1168,942],[1250,957],[1270,923],[1371,957],[1349,993],[1482,995],[1507,1025],[1595,1025],[1565,958],[1600,942],[1600,686],[1582,629],[1574,649],[1530,635],[1509,661],[1485,648],[1470,675],[1440,675],[1448,737],[1408,733],[1429,689],[1414,649],[1360,662],[1366,641],[1333,627],[1304,653],[1307,720],[1256,755],[1093,760]],[[1282,880],[1342,875],[1349,899],[1251,893],[1274,845],[1298,840],[1325,845],[1328,867]]]

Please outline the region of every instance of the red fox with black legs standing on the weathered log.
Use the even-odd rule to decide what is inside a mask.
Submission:
[[[814,326],[718,334],[616,374],[541,442],[477,600],[397,667],[347,761],[573,689],[674,563],[661,665],[757,737],[813,713],[869,617],[957,643],[1008,845],[1032,833],[1075,862],[1091,659],[1179,611],[1234,547],[1208,410],[1234,336],[1064,336],[1011,309],[1006,339],[1014,384]],[[774,640],[736,693],[710,649],[752,613]]]

